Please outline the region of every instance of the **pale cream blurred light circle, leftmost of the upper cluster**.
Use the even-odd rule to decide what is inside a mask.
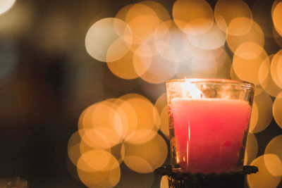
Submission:
[[[94,23],[85,37],[87,53],[98,61],[118,61],[128,53],[133,42],[130,27],[118,18],[104,18]]]

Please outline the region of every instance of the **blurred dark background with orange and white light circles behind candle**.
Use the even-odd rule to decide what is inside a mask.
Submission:
[[[256,84],[249,187],[282,187],[282,2],[0,1],[0,187],[167,187],[165,82]]]

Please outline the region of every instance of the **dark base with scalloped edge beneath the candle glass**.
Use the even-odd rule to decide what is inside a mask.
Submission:
[[[245,176],[247,174],[257,173],[258,168],[256,166],[245,165],[243,170],[238,172],[229,173],[173,173],[171,165],[165,165],[164,167],[157,168],[155,173],[159,175],[168,176],[169,188],[240,188],[245,187]]]

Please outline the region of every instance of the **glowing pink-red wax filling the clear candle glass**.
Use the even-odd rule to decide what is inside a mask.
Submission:
[[[235,99],[172,99],[176,163],[190,173],[238,170],[251,110],[247,101]]]

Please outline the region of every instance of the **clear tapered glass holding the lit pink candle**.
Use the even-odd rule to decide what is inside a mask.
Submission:
[[[243,169],[254,88],[224,79],[166,82],[173,172]]]

